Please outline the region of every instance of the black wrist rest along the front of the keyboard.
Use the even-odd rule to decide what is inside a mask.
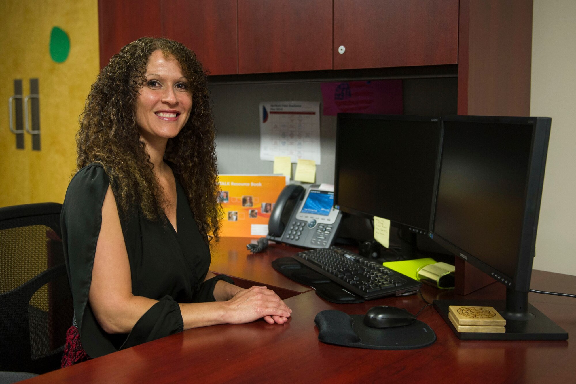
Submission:
[[[364,302],[360,296],[345,290],[328,277],[312,271],[291,257],[277,258],[272,261],[272,268],[297,283],[314,288],[316,295],[329,302],[338,304]]]

